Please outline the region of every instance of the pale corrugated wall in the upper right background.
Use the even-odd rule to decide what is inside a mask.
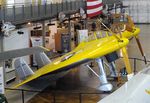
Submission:
[[[124,0],[127,12],[135,23],[150,23],[150,0]]]

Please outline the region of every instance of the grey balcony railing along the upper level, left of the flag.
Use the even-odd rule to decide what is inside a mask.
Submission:
[[[46,20],[57,17],[60,12],[71,14],[77,12],[80,7],[85,7],[84,0],[44,3],[44,4],[17,4],[5,5],[0,8],[0,21],[22,24],[31,21]]]

